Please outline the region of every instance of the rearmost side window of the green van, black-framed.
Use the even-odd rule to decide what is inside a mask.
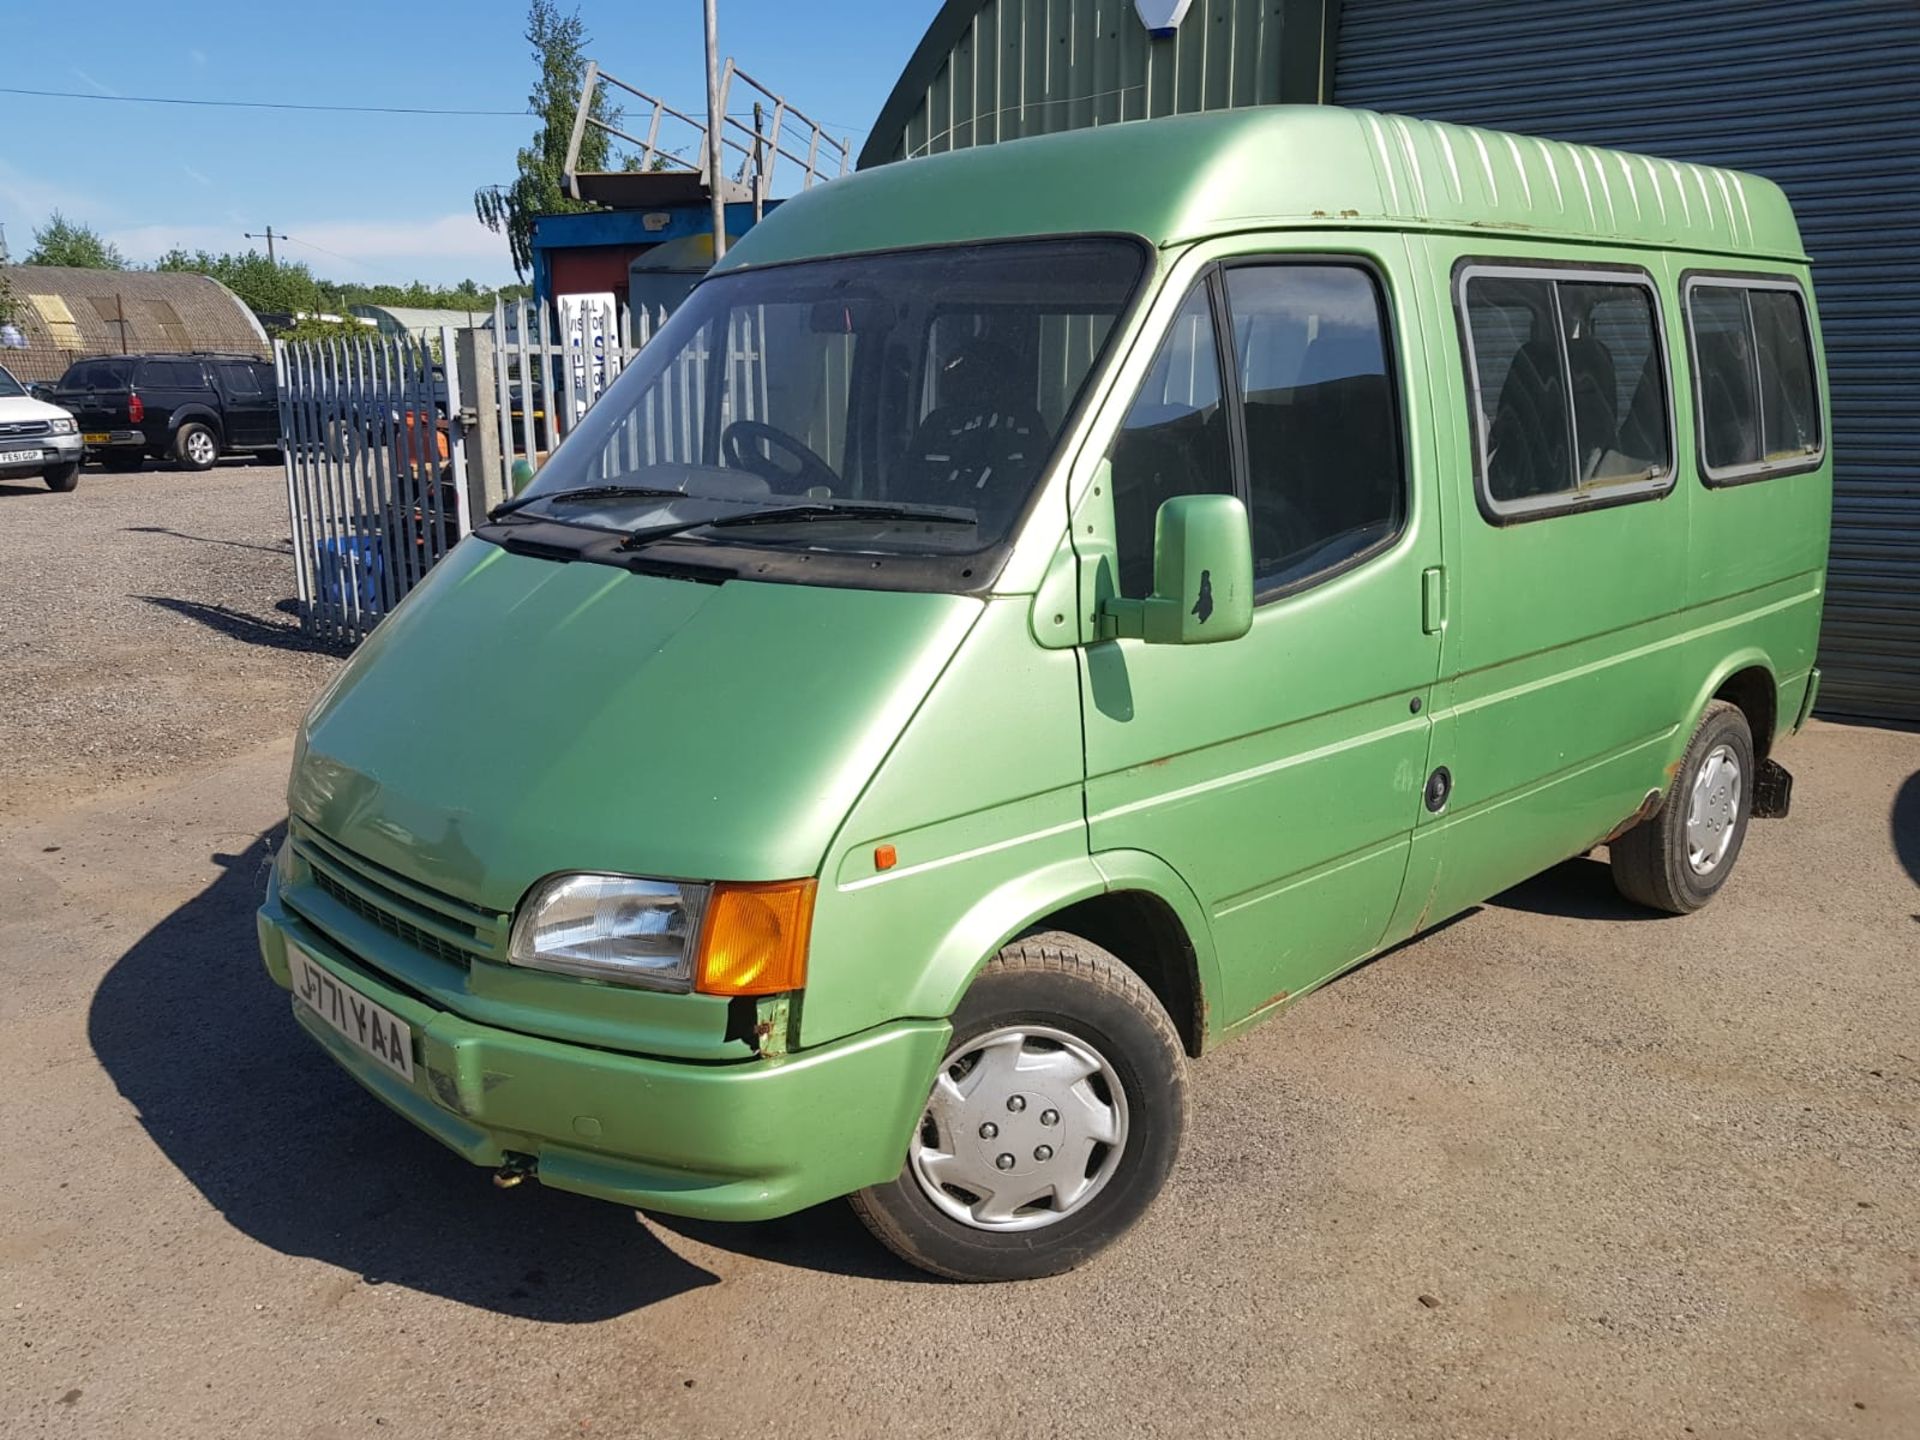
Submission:
[[[1799,288],[1695,278],[1686,300],[1705,480],[1757,480],[1816,461],[1820,399]]]

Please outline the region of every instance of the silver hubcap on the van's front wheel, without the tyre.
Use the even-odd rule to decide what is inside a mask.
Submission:
[[[1127,1148],[1127,1094],[1087,1041],[1006,1025],[947,1056],[908,1158],[927,1200],[981,1231],[1085,1208]]]

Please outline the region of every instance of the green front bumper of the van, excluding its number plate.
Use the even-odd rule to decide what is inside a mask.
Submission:
[[[288,941],[413,1027],[409,1085],[294,1004],[353,1079],[442,1144],[488,1167],[534,1156],[545,1185],[697,1219],[774,1219],[899,1175],[950,1033],[899,1021],[778,1058],[655,1060],[430,1006],[353,962],[269,883],[259,945],[282,989]]]

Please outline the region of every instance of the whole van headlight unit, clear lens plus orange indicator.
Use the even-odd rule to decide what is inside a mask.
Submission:
[[[812,920],[812,879],[553,876],[520,902],[507,958],[651,991],[780,995],[806,985]]]

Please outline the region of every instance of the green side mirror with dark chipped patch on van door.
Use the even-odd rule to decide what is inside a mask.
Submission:
[[[1254,628],[1254,532],[1235,495],[1175,495],[1154,516],[1154,593],[1100,605],[1100,639],[1213,645]]]

